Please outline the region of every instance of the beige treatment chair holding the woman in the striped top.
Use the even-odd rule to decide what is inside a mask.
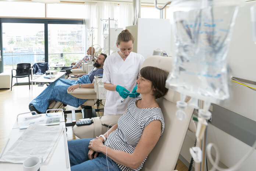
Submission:
[[[142,67],[153,66],[170,72],[172,69],[172,61],[171,57],[150,56],[143,62]],[[78,91],[82,91],[82,89]],[[78,92],[76,93],[78,94]],[[175,112],[178,110],[176,102],[179,99],[180,94],[171,89],[168,90],[167,95],[157,99],[157,103],[164,115],[164,133],[149,154],[142,171],[173,171],[188,128],[192,132],[195,132],[195,122],[191,120],[193,108],[188,107],[185,110],[186,120],[184,121],[180,121],[175,115]],[[189,99],[190,98],[187,97],[186,102]],[[117,123],[120,116],[121,115],[107,115],[92,118],[94,121],[93,124],[81,127],[75,125],[73,132],[79,138],[95,138],[107,131],[108,128],[102,124],[110,125],[113,123],[111,124],[111,126],[113,126]]]

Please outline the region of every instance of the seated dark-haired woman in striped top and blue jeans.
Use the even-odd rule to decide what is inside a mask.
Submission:
[[[164,118],[156,99],[168,91],[168,72],[144,67],[140,75],[136,82],[142,97],[129,101],[117,124],[96,139],[68,141],[71,171],[141,170],[164,131]]]

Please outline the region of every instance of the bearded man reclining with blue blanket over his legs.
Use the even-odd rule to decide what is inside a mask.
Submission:
[[[85,103],[86,99],[78,99],[67,93],[67,90],[73,91],[76,88],[93,88],[93,78],[99,74],[103,74],[103,64],[107,55],[101,53],[95,63],[93,69],[87,74],[79,77],[78,81],[70,79],[57,79],[43,90],[43,92],[29,103],[29,110],[37,113],[45,113],[50,100],[60,101],[61,103],[79,107]]]

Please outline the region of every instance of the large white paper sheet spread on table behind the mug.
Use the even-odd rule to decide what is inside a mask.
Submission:
[[[26,158],[32,156],[42,156],[45,162],[47,157],[51,157],[49,154],[55,149],[53,147],[57,145],[63,129],[61,125],[30,125],[14,145],[3,154],[0,162],[23,163]]]

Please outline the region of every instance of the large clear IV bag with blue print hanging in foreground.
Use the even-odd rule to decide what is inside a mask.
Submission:
[[[227,54],[240,0],[173,0],[173,70],[166,87],[216,103],[229,97]]]

